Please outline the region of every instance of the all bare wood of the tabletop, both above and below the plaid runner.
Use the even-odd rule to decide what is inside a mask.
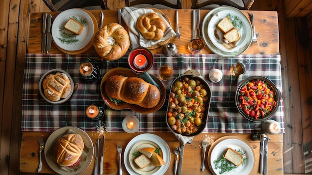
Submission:
[[[171,21],[171,25],[175,25],[175,10],[168,10],[164,9],[162,10],[165,14],[169,16],[169,19]],[[179,53],[189,53],[187,50],[187,42],[191,38],[191,11],[190,9],[182,9],[179,10],[179,26],[180,26],[180,33],[181,38],[180,40],[175,40],[174,38],[170,42],[174,42],[178,48]],[[205,14],[207,14],[209,10],[201,10],[201,20],[204,18]],[[100,10],[91,11],[94,16],[99,20],[99,13]],[[104,25],[110,22],[117,22],[117,10],[103,10],[105,20]],[[243,11],[247,16],[247,11]],[[258,43],[259,45],[252,44],[248,50],[246,50],[243,54],[279,54],[279,30],[278,30],[278,16],[277,12],[275,11],[253,11],[255,16],[255,25],[257,29],[258,34]],[[58,14],[58,12],[51,12],[53,18]],[[29,25],[29,33],[28,33],[28,53],[41,53],[41,29],[42,29],[42,13],[32,13],[30,15],[30,25]],[[181,20],[182,18],[182,20]],[[86,53],[89,53],[93,48],[90,48]],[[156,48],[151,50],[153,53],[162,53],[162,47]],[[50,53],[62,53],[59,51],[54,44],[52,44]],[[208,47],[205,47],[205,49],[201,53],[212,53]],[[33,137],[26,137],[28,134],[33,134]],[[47,133],[44,133],[47,134]],[[88,133],[91,138],[94,137],[94,133]],[[20,171],[22,172],[35,172],[37,169],[37,163],[33,161],[37,161],[37,158],[30,159],[29,156],[33,155],[32,153],[35,152],[36,148],[33,148],[33,146],[38,145],[37,140],[38,136],[41,136],[41,133],[28,133],[23,132],[22,136],[22,147],[20,151]],[[110,136],[112,137],[112,142],[109,137],[106,137],[108,140],[108,150],[112,150],[107,154],[107,164],[110,164],[110,171],[107,172],[116,174],[117,172],[117,164],[116,164],[116,143],[114,142],[122,142],[124,145],[126,145],[131,138],[133,138],[133,135],[129,135],[127,133],[111,133]],[[160,135],[160,133],[158,133]],[[217,138],[224,136],[224,134],[214,134]],[[245,139],[249,139],[250,135],[243,135],[243,134],[234,134],[235,136],[240,136]],[[115,140],[116,136],[119,137],[118,140]],[[173,137],[172,134],[165,134],[163,136],[163,133],[161,133],[161,137],[170,145],[170,150],[173,150],[177,145],[179,145],[179,142]],[[167,138],[168,137],[168,138]],[[273,147],[273,150],[270,149],[270,152],[272,151],[272,157],[269,157],[269,174],[283,174],[283,137],[282,134],[275,135],[277,140],[272,140],[270,143]],[[125,139],[122,139],[125,138]],[[196,174],[205,174],[203,172],[200,172],[200,143],[198,140],[198,137],[195,137],[197,139],[197,144],[194,142],[193,144],[190,144],[192,147],[186,147],[185,152],[188,153],[186,155],[195,155],[191,156],[189,158],[184,157],[184,160],[192,159],[191,162],[188,162],[187,164],[184,164],[183,166],[183,174],[191,174],[192,172],[196,172]],[[96,139],[96,138],[92,138]],[[28,140],[28,141],[27,141]],[[27,142],[26,142],[27,141]],[[195,140],[196,141],[196,140]],[[255,143],[255,142],[253,142]],[[32,146],[29,144],[33,144]],[[172,144],[172,145],[171,145]],[[23,146],[26,146],[25,148]],[[31,148],[32,150],[28,150],[28,148]],[[196,149],[195,149],[196,148]],[[257,174],[259,169],[259,142],[257,144],[253,144],[253,148],[256,154],[256,166],[253,171],[253,175]],[[115,153],[115,154],[112,154]],[[25,157],[24,157],[25,156]],[[173,157],[174,154],[171,153],[171,157]],[[35,157],[35,156],[34,156]],[[113,163],[112,163],[113,162]],[[185,161],[187,162],[187,161]],[[273,164],[274,163],[274,164]],[[170,163],[170,168],[166,174],[173,174],[172,172],[172,165],[173,162]],[[91,164],[88,168],[87,172],[92,173],[93,171],[93,165]],[[198,166],[196,166],[198,165]],[[49,170],[46,173],[52,173],[51,170],[48,168],[46,164],[44,164],[45,169]],[[104,166],[105,167],[105,166]],[[112,172],[111,172],[112,171]],[[45,173],[44,171],[42,171]]]

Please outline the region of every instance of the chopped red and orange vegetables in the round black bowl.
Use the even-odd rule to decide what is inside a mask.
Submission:
[[[276,106],[274,91],[262,80],[251,80],[244,84],[238,95],[239,107],[254,119],[268,116]]]

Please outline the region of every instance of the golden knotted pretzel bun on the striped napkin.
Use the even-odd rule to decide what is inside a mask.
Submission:
[[[166,27],[166,23],[154,12],[143,14],[137,21],[137,28],[146,39],[161,39]]]

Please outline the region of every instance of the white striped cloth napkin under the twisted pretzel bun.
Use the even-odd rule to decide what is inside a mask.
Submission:
[[[143,35],[140,33],[140,31],[137,29],[137,20],[141,15],[147,14],[150,12],[155,12],[155,11],[151,8],[136,8],[136,7],[125,7],[124,9],[122,9],[121,15],[128,26],[131,49],[134,49],[139,46],[146,47],[146,48],[151,47],[175,35],[175,32],[171,28],[169,23],[164,19],[164,17],[161,14],[158,14],[156,12],[158,16],[162,18],[162,20],[165,21],[167,25],[167,28],[164,31],[163,37],[159,39],[158,41],[144,38]]]

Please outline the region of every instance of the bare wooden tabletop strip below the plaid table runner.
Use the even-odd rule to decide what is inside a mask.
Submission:
[[[23,132],[21,153],[20,153],[20,171],[21,172],[36,172],[38,169],[38,139],[42,138],[44,141],[47,140],[50,132],[37,133],[37,132]],[[95,144],[96,139],[100,138],[101,135],[97,132],[87,133]],[[116,175],[118,174],[118,153],[117,143],[121,143],[123,150],[125,150],[129,141],[137,135],[142,133],[127,134],[127,133],[105,133],[105,148],[104,148],[104,166],[103,173],[105,175]],[[154,133],[163,138],[169,146],[171,152],[171,161],[168,163],[169,167],[165,175],[173,175],[175,155],[173,150],[175,147],[180,146],[180,143],[176,140],[172,133]],[[186,144],[184,149],[182,175],[211,175],[208,167],[207,160],[205,160],[205,171],[200,170],[201,166],[201,142],[204,138],[214,137],[218,139],[223,136],[239,136],[249,142],[255,153],[255,167],[251,175],[260,175],[259,171],[259,146],[260,141],[251,141],[250,134],[221,134],[221,133],[202,133],[194,137],[191,144]],[[283,175],[283,134],[269,135],[272,139],[269,141],[269,153],[268,153],[268,175]],[[124,152],[122,154],[122,163]],[[208,156],[208,149],[206,151],[206,158]],[[215,158],[216,159],[216,158]],[[127,170],[123,165],[123,175],[128,175]],[[94,159],[88,169],[81,173],[83,175],[92,175],[94,167]],[[44,156],[42,164],[42,173],[54,173],[47,165]]]

